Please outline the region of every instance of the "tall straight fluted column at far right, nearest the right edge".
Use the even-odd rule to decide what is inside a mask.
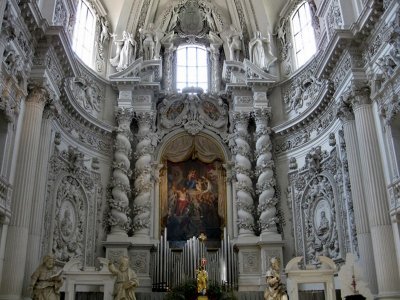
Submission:
[[[379,299],[395,299],[400,295],[399,270],[395,255],[393,231],[389,216],[389,203],[385,176],[379,152],[379,140],[375,128],[369,89],[353,90],[353,110],[361,160],[363,186],[368,206],[368,220],[374,243],[376,277]],[[397,298],[396,298],[397,299]]]

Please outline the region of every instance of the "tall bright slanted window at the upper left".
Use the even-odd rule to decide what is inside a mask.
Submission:
[[[79,1],[72,49],[87,65],[92,64],[96,19],[86,2]]]

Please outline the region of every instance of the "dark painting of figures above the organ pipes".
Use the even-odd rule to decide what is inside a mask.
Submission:
[[[208,241],[220,241],[218,176],[214,164],[200,160],[168,162],[167,176],[168,240],[186,241],[204,233]]]

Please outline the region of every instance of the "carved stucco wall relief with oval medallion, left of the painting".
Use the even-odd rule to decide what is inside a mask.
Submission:
[[[84,165],[86,158],[77,148],[59,151],[50,159],[48,197],[42,253],[53,252],[67,262],[78,258],[94,265],[96,243],[103,238],[100,175]],[[98,254],[97,254],[98,255]]]

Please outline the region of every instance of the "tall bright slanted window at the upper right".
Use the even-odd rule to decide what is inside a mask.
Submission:
[[[292,33],[296,65],[300,68],[317,51],[310,6],[303,2],[292,17]]]

